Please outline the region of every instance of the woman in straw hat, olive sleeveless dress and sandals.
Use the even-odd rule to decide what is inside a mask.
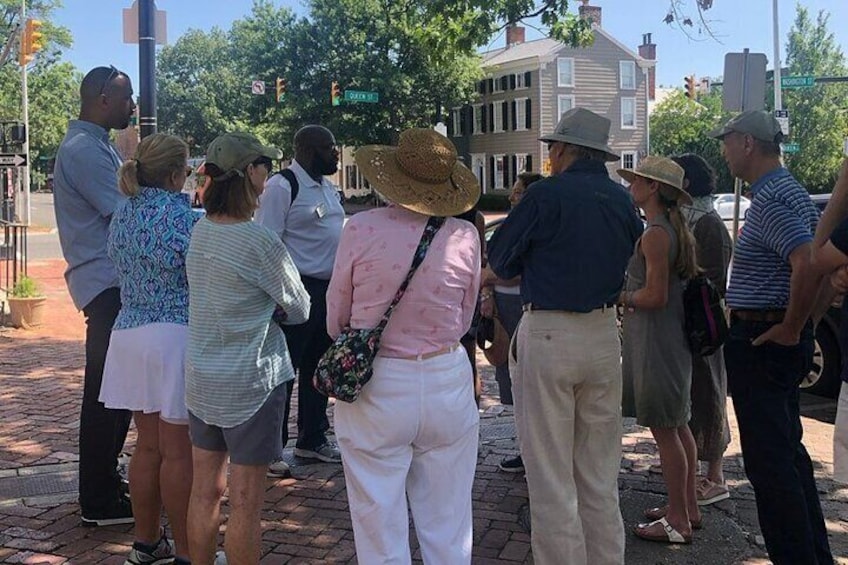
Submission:
[[[691,543],[701,523],[695,492],[697,453],[689,430],[692,354],[683,317],[683,281],[698,273],[695,240],[680,211],[692,200],[684,171],[671,159],[646,157],[636,171],[619,169],[648,227],[627,266],[620,302],[624,413],[651,429],[662,462],[668,506],[634,532],[643,539]],[[634,410],[635,409],[635,410]]]

